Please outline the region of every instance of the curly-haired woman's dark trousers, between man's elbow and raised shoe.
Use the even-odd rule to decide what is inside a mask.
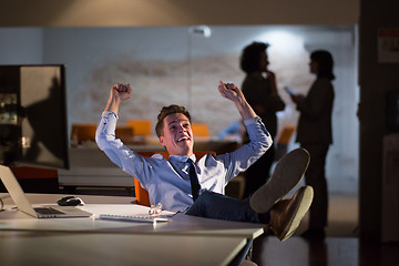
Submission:
[[[270,176],[270,167],[275,161],[276,149],[272,145],[267,152],[259,157],[245,172],[245,192],[244,197],[248,197],[263,186]]]

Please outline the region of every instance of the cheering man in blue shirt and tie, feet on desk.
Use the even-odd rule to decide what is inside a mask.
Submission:
[[[96,143],[113,163],[141,182],[151,204],[162,203],[165,209],[187,215],[268,224],[276,236],[285,241],[297,228],[313,200],[310,186],[303,186],[291,198],[282,200],[301,178],[308,154],[298,149],[282,158],[269,182],[250,198],[225,196],[226,184],[267,151],[272,137],[236,85],[221,81],[217,89],[235,104],[250,140],[232,153],[206,154],[197,161],[193,153],[190,113],[183,106],[170,105],[161,110],[155,126],[170,158],[161,154],[139,155],[115,139],[120,104],[132,96],[130,84],[120,83],[111,89],[96,130]]]

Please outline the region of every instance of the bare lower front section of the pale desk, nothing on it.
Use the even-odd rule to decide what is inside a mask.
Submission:
[[[227,265],[245,243],[227,236],[0,231],[0,265]]]

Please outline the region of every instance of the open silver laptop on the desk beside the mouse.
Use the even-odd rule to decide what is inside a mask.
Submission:
[[[72,206],[40,206],[33,207],[23,193],[22,187],[18,183],[11,170],[0,165],[0,180],[4,184],[12,201],[17,207],[37,218],[71,218],[71,217],[89,217],[92,214]]]

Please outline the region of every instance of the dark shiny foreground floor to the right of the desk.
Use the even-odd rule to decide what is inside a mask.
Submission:
[[[253,262],[266,266],[379,266],[399,265],[399,244],[360,242],[356,237],[327,237],[308,242],[294,236],[255,239]]]

